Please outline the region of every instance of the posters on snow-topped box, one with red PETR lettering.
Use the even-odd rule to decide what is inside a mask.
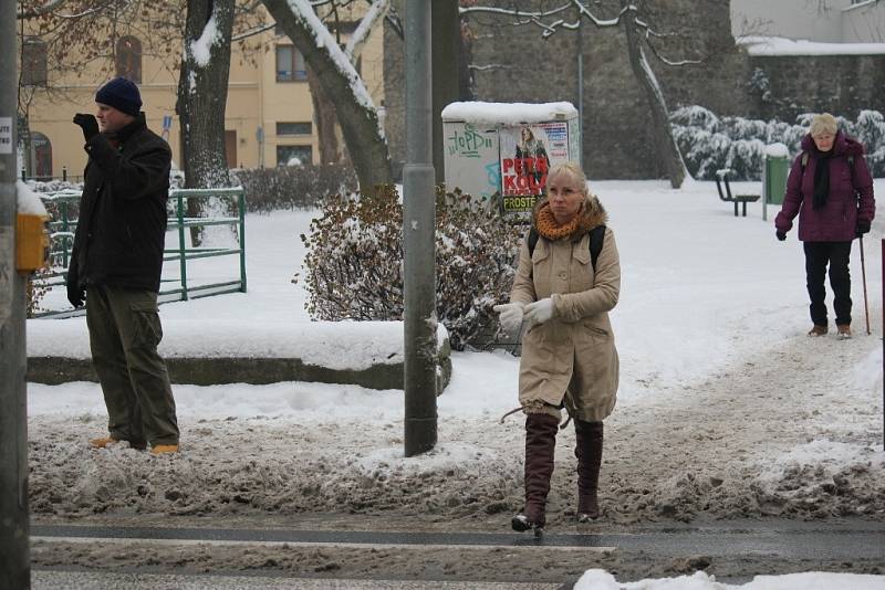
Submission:
[[[544,193],[550,167],[569,160],[569,124],[506,126],[499,137],[503,210],[530,212]]]

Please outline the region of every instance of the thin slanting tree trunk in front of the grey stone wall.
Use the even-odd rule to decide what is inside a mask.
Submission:
[[[629,11],[622,17],[624,32],[627,38],[629,65],[648,102],[648,109],[652,113],[652,131],[655,136],[657,152],[664,159],[670,186],[678,189],[683,186],[687,175],[685,161],[683,161],[683,155],[679,152],[676,139],[673,137],[673,127],[670,127],[669,110],[664,99],[664,92],[660,89],[657,77],[655,77],[655,73],[645,59],[643,40],[636,31],[635,19],[635,11]]]

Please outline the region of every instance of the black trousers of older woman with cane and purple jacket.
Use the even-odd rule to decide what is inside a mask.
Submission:
[[[830,287],[836,324],[851,324],[851,242],[803,242],[805,249],[805,284],[809,288],[811,320],[826,326],[826,265],[830,265]]]

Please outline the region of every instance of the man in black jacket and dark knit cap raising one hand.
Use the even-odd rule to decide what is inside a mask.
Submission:
[[[74,116],[88,162],[67,270],[71,305],[85,298],[92,362],[107,407],[108,435],[90,444],[175,453],[175,400],[157,354],[171,151],[147,128],[134,83],[114,78],[95,102],[95,117]]]

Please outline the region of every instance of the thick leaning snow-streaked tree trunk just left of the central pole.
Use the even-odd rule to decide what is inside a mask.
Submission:
[[[306,2],[263,0],[308,66],[316,74],[326,96],[335,97],[339,123],[363,192],[393,181],[391,152],[378,127],[378,113],[350,61],[312,12],[295,13]],[[316,30],[321,28],[322,30]]]

